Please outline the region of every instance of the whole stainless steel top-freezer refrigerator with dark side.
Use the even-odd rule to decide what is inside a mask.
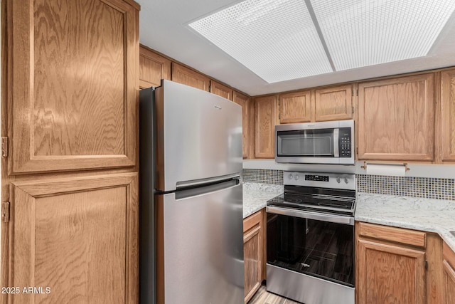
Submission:
[[[139,117],[140,303],[243,303],[242,109],[162,80]]]

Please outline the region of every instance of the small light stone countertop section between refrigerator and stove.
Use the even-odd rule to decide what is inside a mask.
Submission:
[[[267,206],[267,201],[284,192],[281,184],[243,183],[243,218]]]

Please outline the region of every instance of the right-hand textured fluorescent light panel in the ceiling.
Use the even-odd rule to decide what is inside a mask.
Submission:
[[[427,56],[454,0],[311,0],[336,70]]]

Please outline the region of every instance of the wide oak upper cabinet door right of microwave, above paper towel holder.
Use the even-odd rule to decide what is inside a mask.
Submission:
[[[433,74],[358,85],[358,159],[434,159]]]

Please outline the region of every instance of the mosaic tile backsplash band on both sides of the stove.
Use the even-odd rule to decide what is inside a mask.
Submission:
[[[356,174],[358,192],[455,200],[455,179]],[[283,171],[243,169],[244,182],[283,184]]]

